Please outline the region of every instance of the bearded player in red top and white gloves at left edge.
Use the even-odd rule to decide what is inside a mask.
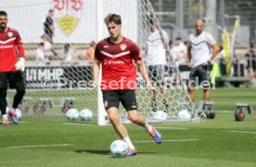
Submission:
[[[0,110],[3,116],[3,125],[8,125],[6,112],[15,124],[19,124],[17,114],[14,112],[25,94],[25,81],[23,73],[25,69],[24,50],[17,30],[7,27],[7,14],[0,11]],[[19,50],[19,58],[16,54]],[[12,109],[6,111],[7,85],[10,89],[16,89]]]

